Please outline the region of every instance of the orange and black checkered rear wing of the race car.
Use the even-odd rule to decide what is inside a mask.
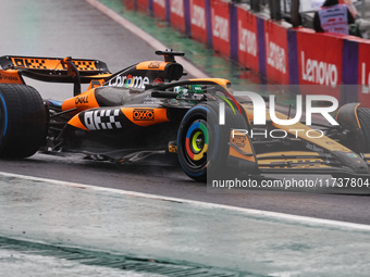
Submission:
[[[70,56],[63,59],[3,55],[0,56],[0,65],[4,75],[7,71],[12,73],[15,71],[20,76],[42,81],[75,83],[75,78],[79,76],[81,83],[88,84],[91,79],[108,79],[111,76],[104,62]],[[2,78],[0,83],[7,83],[7,78]]]

